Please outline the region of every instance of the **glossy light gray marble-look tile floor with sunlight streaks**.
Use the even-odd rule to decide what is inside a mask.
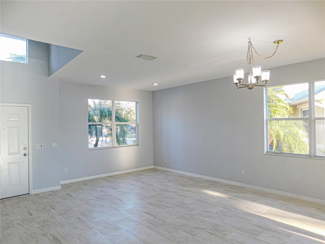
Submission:
[[[325,243],[325,206],[148,169],[1,201],[1,243]]]

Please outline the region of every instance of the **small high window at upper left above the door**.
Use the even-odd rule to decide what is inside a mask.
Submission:
[[[27,64],[27,39],[0,33],[0,60]]]

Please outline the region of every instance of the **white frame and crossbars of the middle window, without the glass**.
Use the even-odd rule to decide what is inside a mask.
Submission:
[[[91,98],[89,98],[91,99]],[[101,149],[108,149],[108,148],[114,148],[114,147],[124,147],[124,146],[138,146],[139,145],[139,102],[134,102],[134,101],[122,101],[122,100],[104,100],[104,99],[92,99],[92,100],[102,100],[102,101],[111,101],[112,102],[112,122],[102,122],[102,123],[93,123],[93,122],[88,122],[89,125],[110,125],[112,127],[112,146],[101,146],[101,147],[89,147],[88,144],[88,149],[89,150],[101,150]],[[88,100],[87,100],[88,101]],[[120,101],[120,102],[133,102],[135,103],[136,106],[136,121],[135,122],[116,122],[115,121],[115,102]],[[136,125],[136,144],[132,145],[117,145],[116,143],[116,126],[117,125]]]

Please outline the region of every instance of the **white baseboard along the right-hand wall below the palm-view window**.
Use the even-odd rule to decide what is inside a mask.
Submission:
[[[243,184],[243,183],[232,181],[232,180],[219,179],[219,178],[214,178],[214,177],[205,176],[205,175],[201,175],[201,174],[193,174],[193,173],[188,173],[188,172],[185,172],[185,171],[179,171],[179,170],[175,170],[175,169],[163,168],[163,167],[159,167],[159,166],[153,166],[153,168],[166,170],[166,171],[171,171],[171,172],[184,174],[184,175],[188,175],[188,176],[193,176],[193,177],[218,181],[218,182],[224,183],[224,184],[229,184],[229,185],[234,185],[234,186],[239,186],[239,187],[245,187],[245,188],[260,190],[260,191],[269,192],[269,193],[275,193],[275,194],[279,194],[279,195],[283,195],[283,196],[287,196],[287,197],[298,198],[298,199],[301,199],[301,200],[306,200],[306,201],[315,202],[315,203],[319,203],[319,204],[325,204],[325,201],[321,200],[321,199],[306,197],[306,196],[293,194],[293,193],[288,193],[288,192],[282,192],[282,191],[273,190],[273,189],[264,188],[264,187],[256,187],[256,186],[253,186],[253,185]]]

